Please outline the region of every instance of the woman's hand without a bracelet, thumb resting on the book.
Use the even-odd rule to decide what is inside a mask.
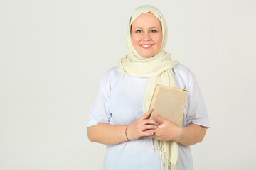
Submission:
[[[155,118],[161,124],[155,130],[154,135],[149,136],[149,138],[155,138],[156,140],[161,141],[177,141],[181,137],[181,127],[175,125],[174,123],[171,123],[169,120],[166,120],[165,118],[162,118],[159,115],[155,115]],[[149,132],[151,132],[151,130],[149,130]]]

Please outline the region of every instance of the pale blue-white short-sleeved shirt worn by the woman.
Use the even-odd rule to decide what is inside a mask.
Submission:
[[[177,64],[173,70],[176,86],[189,91],[181,126],[194,123],[209,128],[206,106],[196,78],[182,64]],[[142,106],[147,80],[124,74],[117,67],[109,69],[100,81],[87,127],[98,123],[132,125],[144,114]],[[106,149],[104,170],[161,170],[159,151],[154,150],[148,137],[107,145]],[[178,144],[178,149],[179,169],[193,169],[190,147]]]

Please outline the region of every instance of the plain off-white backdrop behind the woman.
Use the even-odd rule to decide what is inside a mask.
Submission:
[[[256,1],[0,0],[1,170],[102,169],[90,104],[144,4],[164,13],[166,51],[206,101],[211,128],[191,147],[194,169],[256,169]]]

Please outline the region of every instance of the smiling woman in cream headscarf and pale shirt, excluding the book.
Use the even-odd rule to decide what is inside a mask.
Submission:
[[[189,145],[203,140],[208,115],[196,78],[164,51],[166,38],[157,8],[132,13],[127,55],[102,77],[87,124],[89,139],[107,145],[104,169],[193,169]],[[156,84],[190,92],[181,126],[159,115],[159,123],[146,119]]]

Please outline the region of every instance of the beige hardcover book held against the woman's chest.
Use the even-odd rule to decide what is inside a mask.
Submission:
[[[156,120],[154,115],[157,114],[180,125],[188,93],[185,89],[157,84],[149,106],[149,108],[153,108],[149,119]]]

